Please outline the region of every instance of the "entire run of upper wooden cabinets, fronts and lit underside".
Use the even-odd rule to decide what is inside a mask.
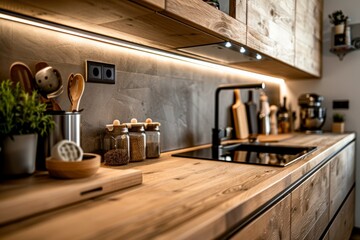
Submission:
[[[321,1],[231,0],[234,17],[202,0],[3,0],[0,10],[256,73],[305,79],[320,76],[321,19],[316,19]],[[312,11],[309,6],[314,19],[306,12]],[[225,41],[255,50],[263,59],[239,56],[224,63],[181,51]]]

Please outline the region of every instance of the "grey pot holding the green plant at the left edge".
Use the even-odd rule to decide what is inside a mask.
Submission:
[[[35,172],[37,134],[6,137],[0,146],[0,176],[20,177]]]

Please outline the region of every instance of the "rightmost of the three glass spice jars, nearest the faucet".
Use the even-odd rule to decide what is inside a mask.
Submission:
[[[146,158],[160,157],[160,123],[146,119]]]

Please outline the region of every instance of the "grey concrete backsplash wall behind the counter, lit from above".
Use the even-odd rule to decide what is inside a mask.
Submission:
[[[9,78],[13,62],[32,71],[44,61],[62,75],[64,93],[57,98],[70,109],[66,86],[71,73],[85,75],[85,60],[116,65],[116,84],[87,83],[80,109],[81,145],[85,152],[101,149],[105,124],[114,119],[129,122],[150,117],[161,122],[162,151],[211,142],[214,92],[223,83],[254,83],[233,71],[224,72],[196,64],[130,50],[111,44],[28,26],[0,22],[0,79]],[[272,103],[279,101],[279,86],[267,84]],[[255,94],[256,98],[258,94]],[[246,101],[247,91],[242,91]],[[220,126],[231,125],[231,92],[221,93]]]

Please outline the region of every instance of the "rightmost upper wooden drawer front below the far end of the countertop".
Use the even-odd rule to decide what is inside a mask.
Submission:
[[[352,143],[330,162],[330,218],[355,183],[355,144]]]

